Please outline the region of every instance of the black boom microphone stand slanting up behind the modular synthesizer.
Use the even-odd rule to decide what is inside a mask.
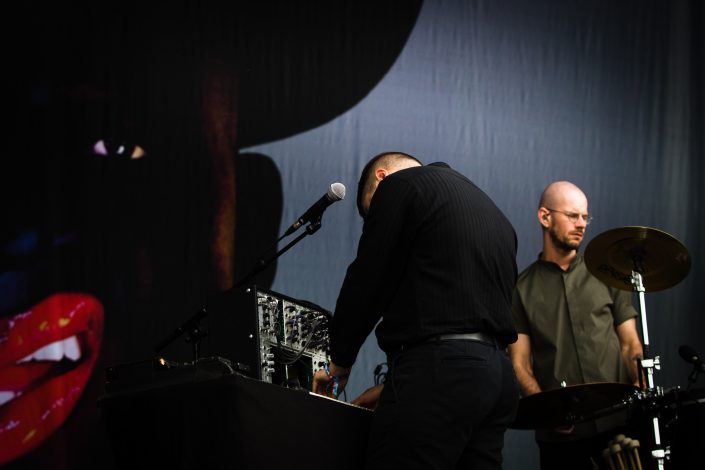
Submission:
[[[316,233],[318,231],[318,229],[321,228],[321,217],[322,216],[318,216],[314,220],[312,220],[311,223],[309,223],[306,226],[305,231],[302,234],[300,234],[298,237],[296,237],[294,240],[289,242],[284,248],[275,252],[274,254],[272,254],[271,256],[269,256],[267,258],[264,258],[264,257],[260,258],[260,260],[257,261],[255,266],[250,270],[250,272],[245,277],[243,277],[241,280],[237,281],[233,285],[233,287],[228,289],[226,292],[235,290],[239,287],[242,287],[244,284],[247,284],[257,274],[264,271],[267,268],[267,266],[269,266],[272,263],[272,261],[274,261],[275,259],[279,258],[281,255],[283,255],[284,253],[289,251],[294,245],[296,245],[301,240],[303,240],[304,237],[306,237],[307,235],[313,235],[314,233]],[[285,236],[286,236],[286,234],[279,237],[279,239],[275,242],[274,246],[276,247],[276,244],[279,241],[281,241],[281,239],[284,238]],[[270,251],[272,249],[270,249]],[[166,338],[164,338],[162,341],[157,343],[157,345],[154,348],[154,352],[158,353],[159,351],[161,351],[162,349],[167,347],[169,344],[171,344],[173,341],[175,341],[177,338],[179,338],[181,335],[187,334],[186,342],[191,342],[193,344],[194,362],[198,361],[201,339],[204,336],[208,336],[208,331],[203,329],[200,326],[199,322],[203,318],[205,318],[207,315],[208,315],[207,307],[202,307],[194,315],[189,317],[181,326],[179,326],[177,329],[175,329],[171,334],[169,334]]]

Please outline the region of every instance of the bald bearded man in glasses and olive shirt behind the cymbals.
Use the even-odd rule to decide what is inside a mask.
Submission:
[[[573,183],[549,184],[537,212],[543,251],[517,281],[512,299],[518,340],[509,346],[523,396],[565,385],[638,385],[642,345],[631,294],[592,276],[578,252],[592,217]],[[592,469],[617,417],[538,430],[541,468]]]

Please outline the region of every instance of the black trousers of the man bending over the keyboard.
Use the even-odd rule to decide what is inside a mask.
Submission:
[[[424,343],[388,359],[368,470],[500,469],[519,388],[503,349],[466,340]]]

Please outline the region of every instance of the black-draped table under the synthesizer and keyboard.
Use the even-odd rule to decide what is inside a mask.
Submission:
[[[372,412],[239,374],[114,392],[118,468],[360,469]]]

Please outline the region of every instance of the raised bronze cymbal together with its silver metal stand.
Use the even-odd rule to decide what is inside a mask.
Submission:
[[[639,296],[644,357],[639,363],[639,381],[646,371],[649,395],[662,395],[654,381],[654,370],[660,360],[650,357],[649,330],[646,319],[645,293],[672,287],[690,270],[688,250],[674,237],[650,227],[622,227],[595,237],[585,250],[585,265],[590,273],[605,284],[621,290],[633,290]],[[651,455],[664,469],[670,449],[661,446],[657,408],[651,408],[654,449]]]

